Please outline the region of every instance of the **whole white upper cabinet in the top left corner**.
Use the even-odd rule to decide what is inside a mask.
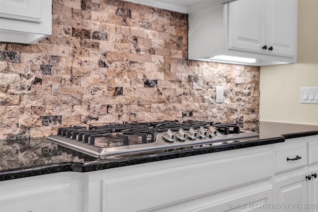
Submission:
[[[0,42],[31,44],[52,34],[52,0],[0,0]]]

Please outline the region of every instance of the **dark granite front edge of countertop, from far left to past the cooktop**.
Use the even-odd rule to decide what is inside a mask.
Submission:
[[[227,145],[213,146],[213,147],[201,147],[198,149],[186,149],[179,150],[177,152],[165,152],[160,154],[150,154],[136,157],[124,157],[118,160],[98,160],[92,162],[65,162],[54,163],[49,165],[40,165],[36,167],[26,167],[24,169],[13,169],[0,172],[0,181],[18,179],[23,177],[32,177],[37,175],[52,174],[58,172],[90,172],[103,169],[110,169],[116,167],[130,166],[142,163],[149,163],[161,160],[168,160],[174,158],[188,157],[200,154],[208,154],[213,152],[228,151],[240,148],[247,148],[253,146],[267,145],[272,143],[284,142],[284,137],[275,137],[270,139],[261,139],[255,141],[247,141],[240,143],[233,143]]]

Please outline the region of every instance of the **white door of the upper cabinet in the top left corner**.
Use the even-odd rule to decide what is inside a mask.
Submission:
[[[22,21],[41,22],[41,1],[1,0],[0,17]]]

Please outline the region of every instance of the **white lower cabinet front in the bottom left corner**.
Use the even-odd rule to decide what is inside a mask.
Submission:
[[[61,172],[0,182],[0,212],[80,212],[80,173]]]

